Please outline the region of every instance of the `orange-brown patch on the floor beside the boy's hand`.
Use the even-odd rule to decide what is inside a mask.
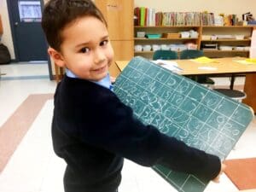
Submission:
[[[224,164],[224,172],[238,189],[256,189],[256,158],[225,160]]]

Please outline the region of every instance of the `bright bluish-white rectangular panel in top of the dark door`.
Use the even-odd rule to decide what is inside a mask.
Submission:
[[[41,22],[40,1],[19,1],[20,22]]]

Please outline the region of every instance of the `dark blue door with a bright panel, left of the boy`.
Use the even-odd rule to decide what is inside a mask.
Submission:
[[[41,27],[43,0],[8,0],[17,61],[47,61],[47,44]]]

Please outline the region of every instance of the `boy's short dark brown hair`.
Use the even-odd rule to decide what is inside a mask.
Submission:
[[[44,6],[42,16],[42,27],[49,46],[60,51],[63,41],[61,31],[74,20],[84,16],[96,17],[107,26],[102,12],[91,0],[49,0]]]

